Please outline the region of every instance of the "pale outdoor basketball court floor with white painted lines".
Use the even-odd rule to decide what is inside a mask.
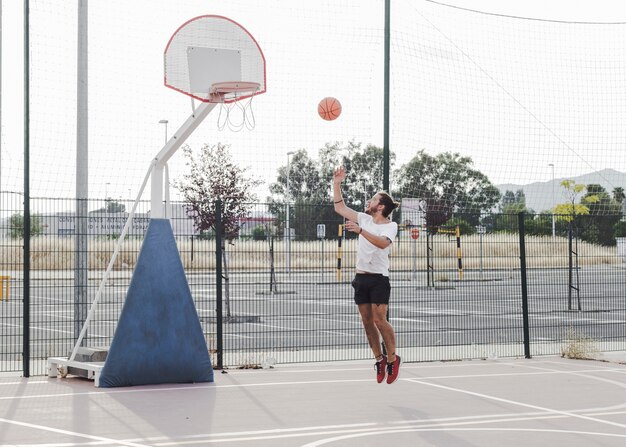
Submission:
[[[3,446],[623,446],[626,364],[559,357],[216,371],[211,384],[0,379]]]

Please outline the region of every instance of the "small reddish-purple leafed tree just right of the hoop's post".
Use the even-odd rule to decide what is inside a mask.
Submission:
[[[246,169],[235,165],[229,146],[205,144],[195,155],[189,146],[183,147],[188,174],[175,181],[187,205],[187,215],[200,232],[215,230],[215,201],[222,199],[222,224],[228,240],[239,234],[240,221],[248,214],[248,204],[256,200],[252,190],[260,181],[246,177]]]

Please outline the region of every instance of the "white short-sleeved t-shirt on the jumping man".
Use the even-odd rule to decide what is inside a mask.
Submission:
[[[374,223],[374,219],[372,219],[372,216],[369,214],[358,213],[357,223],[368,233],[387,237],[392,242],[398,234],[397,223],[388,222],[377,224]],[[364,236],[360,235],[356,254],[356,269],[368,273],[382,273],[384,276],[389,276],[390,249],[391,245],[388,245],[387,248],[378,248],[365,239]]]

